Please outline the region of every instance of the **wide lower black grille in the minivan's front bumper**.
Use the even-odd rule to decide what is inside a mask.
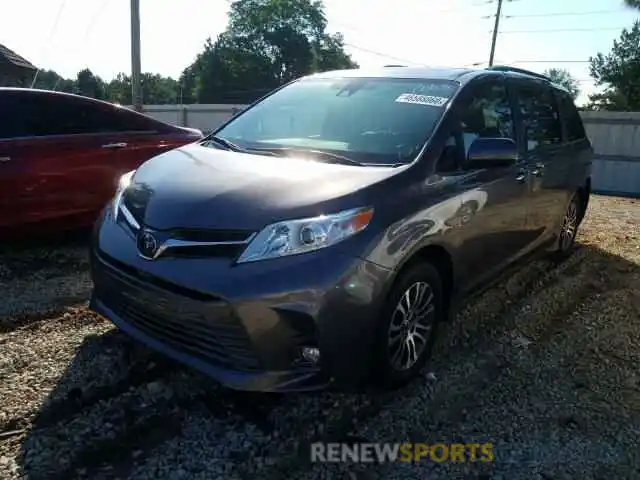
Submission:
[[[95,283],[109,309],[168,346],[217,366],[259,368],[248,335],[226,302],[198,302],[149,285],[135,285],[115,272],[101,275]]]

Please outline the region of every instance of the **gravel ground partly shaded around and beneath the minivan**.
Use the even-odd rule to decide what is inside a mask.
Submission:
[[[86,248],[0,254],[1,478],[640,478],[640,201],[443,329],[392,393],[225,390],[86,308]],[[310,441],[490,442],[492,464],[311,464]]]

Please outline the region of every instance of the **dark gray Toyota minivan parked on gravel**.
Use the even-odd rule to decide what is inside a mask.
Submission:
[[[591,159],[526,70],[311,75],[122,177],[91,307],[231,388],[398,386],[462,299],[571,251]]]

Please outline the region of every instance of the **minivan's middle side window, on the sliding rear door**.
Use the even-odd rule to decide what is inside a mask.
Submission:
[[[532,83],[520,85],[517,92],[527,151],[561,143],[562,124],[551,89]]]

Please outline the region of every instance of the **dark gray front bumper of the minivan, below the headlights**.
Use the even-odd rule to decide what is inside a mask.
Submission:
[[[222,258],[144,260],[106,219],[91,251],[90,308],[120,329],[238,390],[358,386],[391,271],[327,249],[232,266]],[[318,364],[303,346],[318,347]]]

